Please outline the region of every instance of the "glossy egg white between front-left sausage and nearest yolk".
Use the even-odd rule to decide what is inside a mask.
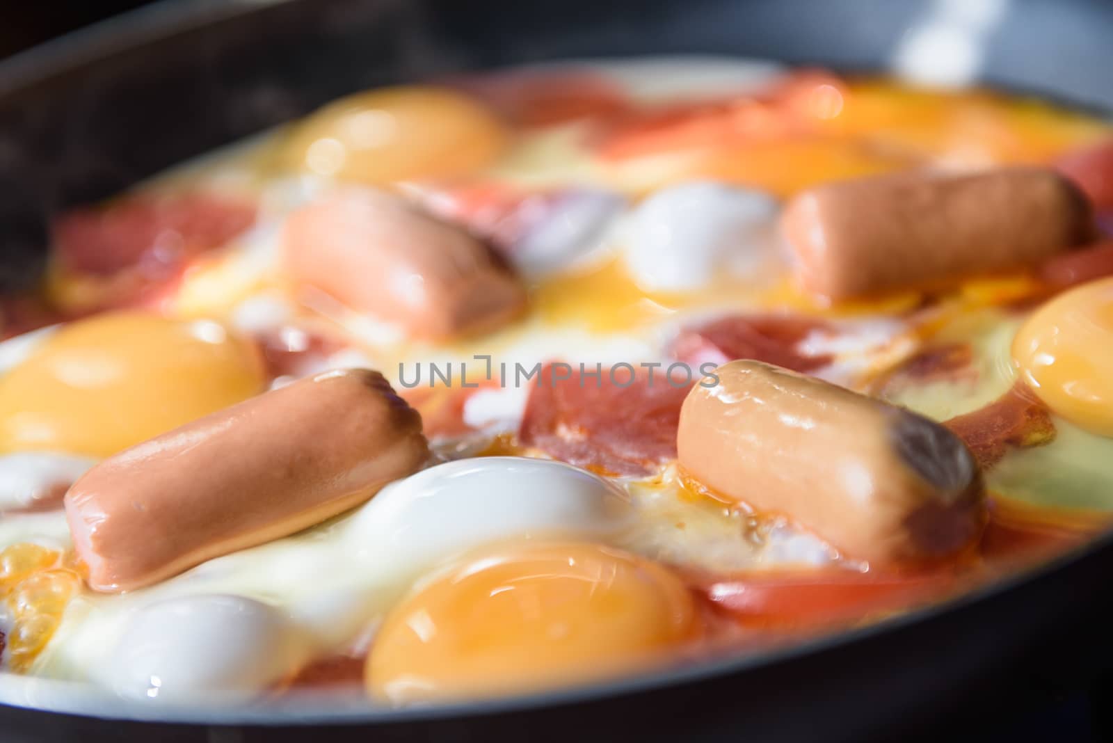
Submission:
[[[82,593],[35,673],[107,684],[126,696],[259,693],[307,658],[356,648],[415,581],[506,541],[574,539],[720,571],[837,556],[784,525],[760,538],[750,532],[745,514],[681,497],[674,482],[628,489],[545,459],[450,462],[303,534],[134,593]],[[266,655],[272,643],[275,654]]]

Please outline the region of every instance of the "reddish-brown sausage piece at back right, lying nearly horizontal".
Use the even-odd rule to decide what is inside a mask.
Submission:
[[[1018,268],[1093,231],[1086,198],[1046,168],[828,184],[781,219],[800,285],[834,300]]]

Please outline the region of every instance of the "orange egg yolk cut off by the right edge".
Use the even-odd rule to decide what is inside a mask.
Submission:
[[[1054,413],[1113,436],[1113,278],[1084,284],[1037,309],[1013,340],[1013,360]]]

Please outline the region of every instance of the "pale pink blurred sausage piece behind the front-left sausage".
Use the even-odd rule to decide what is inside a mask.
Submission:
[[[493,329],[525,291],[492,251],[385,191],[349,188],[290,215],[286,266],[297,281],[433,340]]]

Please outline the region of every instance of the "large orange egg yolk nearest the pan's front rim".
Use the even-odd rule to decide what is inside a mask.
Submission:
[[[690,594],[660,565],[591,544],[519,544],[404,600],[366,683],[395,704],[535,691],[659,662],[699,631]]]

